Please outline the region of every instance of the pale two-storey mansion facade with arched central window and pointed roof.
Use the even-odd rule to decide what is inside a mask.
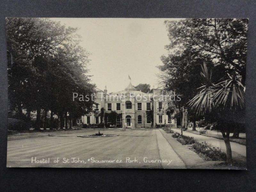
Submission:
[[[127,128],[152,128],[156,125],[170,124],[166,115],[169,100],[164,97],[161,88],[153,89],[153,93],[144,93],[137,91],[130,82],[124,91],[108,94],[106,87],[104,91],[98,88],[95,91],[95,103],[97,104],[94,105],[94,109],[100,112],[100,109],[104,108],[105,113],[115,111],[122,114],[122,120],[119,119],[122,127],[124,127],[124,119],[126,119]],[[153,113],[153,123],[150,115],[148,115],[150,113]],[[82,116],[79,123],[98,124],[100,117],[94,116],[94,113],[89,113]],[[177,127],[175,119],[171,119],[171,125]]]

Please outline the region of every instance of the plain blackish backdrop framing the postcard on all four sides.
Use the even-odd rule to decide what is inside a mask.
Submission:
[[[0,191],[256,191],[255,10],[253,0],[0,0]],[[6,168],[5,17],[249,18],[246,74],[248,170]]]

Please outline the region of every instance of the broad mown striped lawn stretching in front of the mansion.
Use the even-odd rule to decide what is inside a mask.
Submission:
[[[155,130],[111,130],[107,138],[82,138],[84,132],[58,133],[55,136],[9,140],[7,167],[125,167],[161,168]],[[33,157],[33,159],[32,159]],[[135,159],[136,158],[136,159]],[[32,163],[31,163],[32,161]]]

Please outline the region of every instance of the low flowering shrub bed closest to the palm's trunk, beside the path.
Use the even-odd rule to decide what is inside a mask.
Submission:
[[[206,143],[195,142],[192,146],[193,151],[198,154],[203,154],[212,161],[226,161],[226,153],[220,151],[219,148],[211,147]]]

